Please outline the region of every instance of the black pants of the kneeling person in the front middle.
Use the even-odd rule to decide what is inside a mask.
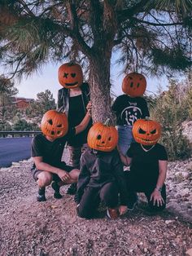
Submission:
[[[102,188],[86,187],[77,210],[78,215],[81,218],[93,218],[100,201],[104,201],[109,208],[116,208],[118,188],[115,183],[106,183]]]

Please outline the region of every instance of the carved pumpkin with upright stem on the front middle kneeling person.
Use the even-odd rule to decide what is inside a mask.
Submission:
[[[114,126],[106,123],[96,122],[89,129],[87,143],[89,148],[94,148],[99,151],[110,152],[116,148],[118,142],[118,132]]]

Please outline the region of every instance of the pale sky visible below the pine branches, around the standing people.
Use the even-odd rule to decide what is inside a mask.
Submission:
[[[124,78],[124,74],[120,73],[121,68],[118,64],[114,64],[111,60],[111,81],[113,82],[112,91],[115,95],[123,94],[121,90],[121,84]],[[15,87],[19,90],[17,96],[24,98],[37,99],[37,93],[45,90],[50,90],[53,93],[55,100],[57,101],[58,90],[62,88],[58,81],[58,69],[61,64],[47,64],[41,71],[34,73],[30,77],[23,77],[20,82],[15,80]],[[146,77],[146,92],[155,93],[157,88],[161,85],[164,90],[168,85],[168,81],[165,77],[151,78]]]

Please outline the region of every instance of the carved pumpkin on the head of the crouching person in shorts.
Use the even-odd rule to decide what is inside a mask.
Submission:
[[[68,117],[56,110],[47,111],[41,120],[41,131],[52,139],[63,137],[68,132]]]

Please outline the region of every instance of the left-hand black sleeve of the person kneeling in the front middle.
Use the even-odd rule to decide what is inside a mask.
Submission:
[[[85,158],[82,156],[80,161],[80,175],[77,182],[77,191],[76,191],[76,203],[79,204],[81,197],[83,196],[84,189],[89,183],[90,173],[85,164]]]

